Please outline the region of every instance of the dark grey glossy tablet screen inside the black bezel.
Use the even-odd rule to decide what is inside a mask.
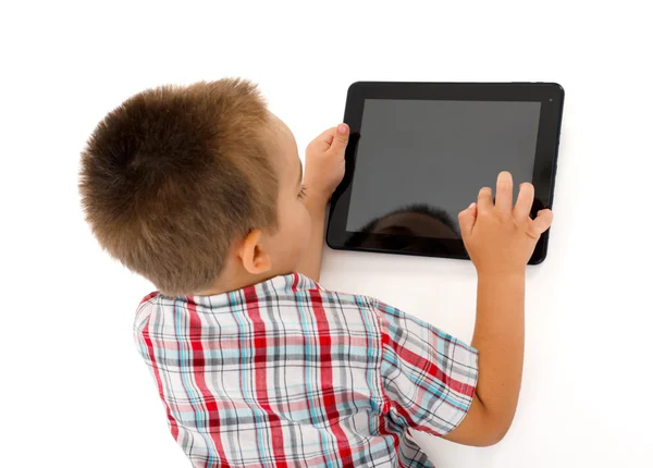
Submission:
[[[366,99],[348,232],[459,237],[458,212],[510,171],[531,182],[540,102]],[[409,233],[402,226],[410,225]]]

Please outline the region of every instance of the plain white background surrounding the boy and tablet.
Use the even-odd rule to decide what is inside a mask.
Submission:
[[[260,83],[299,147],[358,79],[555,81],[567,91],[550,257],[528,273],[506,439],[422,436],[439,467],[651,467],[653,33],[645,2],[2,2],[0,466],[187,466],[132,342],[151,286],[77,196],[96,123],[162,83]],[[469,340],[471,264],[328,251],[323,284]]]

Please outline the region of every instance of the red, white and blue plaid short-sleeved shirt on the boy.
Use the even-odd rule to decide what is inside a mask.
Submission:
[[[452,431],[478,378],[471,347],[297,273],[152,293],[134,332],[195,467],[431,467],[408,429]]]

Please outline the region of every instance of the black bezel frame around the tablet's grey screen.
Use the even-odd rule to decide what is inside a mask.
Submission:
[[[331,199],[326,244],[331,248],[340,250],[469,258],[460,239],[406,237],[386,234],[367,235],[368,239],[385,241],[384,244],[390,245],[402,245],[401,249],[393,249],[392,247],[366,248],[360,243],[353,242],[357,237],[355,236],[356,233],[346,231],[346,223],[366,99],[540,102],[540,124],[532,177],[535,201],[531,214],[534,215],[538,210],[551,208],[553,205],[564,97],[565,91],[557,83],[354,83],[347,93],[344,119],[344,122],[350,128],[349,145],[345,152],[345,176]],[[547,246],[549,231],[538,242],[529,263],[541,263],[546,258]]]

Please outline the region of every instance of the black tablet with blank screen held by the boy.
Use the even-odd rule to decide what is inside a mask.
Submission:
[[[469,258],[458,212],[501,171],[551,208],[564,90],[555,83],[379,83],[349,87],[352,130],[326,243],[334,249]],[[516,199],[516,198],[515,198]],[[546,257],[544,233],[529,263]]]

